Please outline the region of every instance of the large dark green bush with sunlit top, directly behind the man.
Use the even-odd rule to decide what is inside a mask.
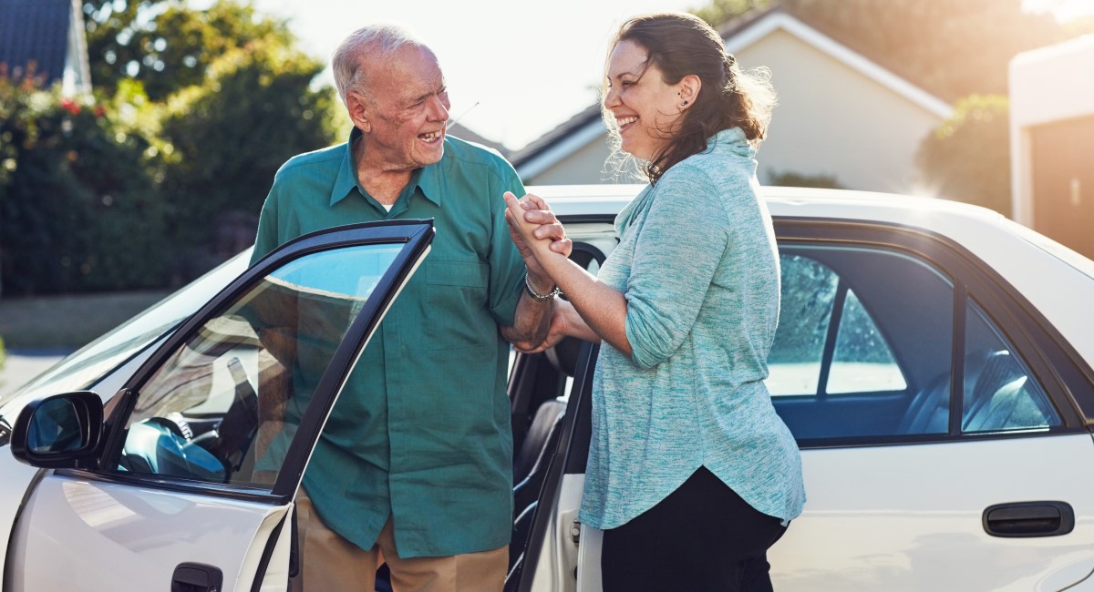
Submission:
[[[280,39],[254,39],[171,96],[161,139],[170,154],[162,194],[186,281],[249,246],[274,174],[292,155],[327,146],[338,100],[312,88],[323,64]],[[182,265],[182,268],[179,268]]]

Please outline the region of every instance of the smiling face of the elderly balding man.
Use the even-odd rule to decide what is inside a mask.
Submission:
[[[364,157],[384,170],[412,170],[444,155],[449,93],[437,58],[427,49],[403,46],[366,72],[366,96],[358,93]],[[354,102],[350,100],[353,114]]]

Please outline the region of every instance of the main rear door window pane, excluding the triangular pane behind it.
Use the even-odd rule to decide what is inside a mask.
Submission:
[[[953,282],[905,252],[781,245],[768,389],[799,439],[945,434]]]

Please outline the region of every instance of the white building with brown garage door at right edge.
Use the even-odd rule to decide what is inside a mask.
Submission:
[[[1014,220],[1094,259],[1094,35],[1010,63]]]

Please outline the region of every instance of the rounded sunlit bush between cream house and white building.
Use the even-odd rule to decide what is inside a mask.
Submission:
[[[1009,103],[971,95],[919,147],[917,165],[935,194],[1011,215]]]

